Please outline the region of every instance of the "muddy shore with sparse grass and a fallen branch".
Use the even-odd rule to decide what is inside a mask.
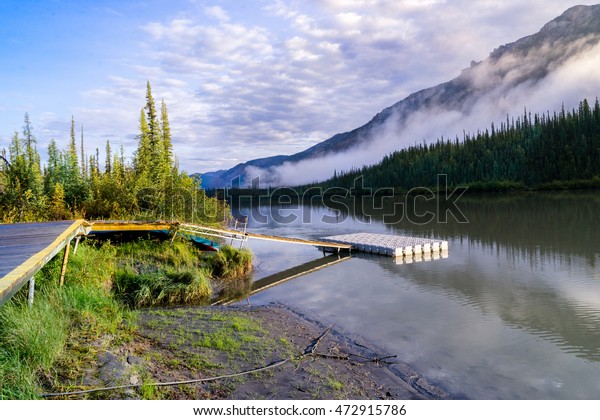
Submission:
[[[148,309],[137,318],[130,340],[104,337],[92,344],[95,363],[78,384],[55,382],[48,391],[132,384],[63,398],[451,398],[402,363],[402,355],[385,354],[299,308]],[[180,384],[159,385],[167,382]]]

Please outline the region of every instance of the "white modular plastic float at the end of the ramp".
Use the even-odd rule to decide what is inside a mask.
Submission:
[[[428,238],[412,238],[408,236],[384,235],[377,233],[349,233],[346,235],[327,236],[325,242],[336,242],[352,245],[352,248],[371,254],[389,255],[391,257],[411,257],[445,253],[448,241]],[[435,258],[435,257],[434,257]]]

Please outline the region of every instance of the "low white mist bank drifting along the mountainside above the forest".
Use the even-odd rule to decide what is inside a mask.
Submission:
[[[316,159],[285,163],[268,170],[248,168],[246,179],[259,177],[261,185],[294,186],[323,181],[351,168],[377,163],[395,150],[439,138],[462,139],[463,132],[476,134],[485,131],[492,123],[499,127],[506,117],[519,117],[524,109],[532,114],[546,114],[577,108],[579,102],[587,98],[593,103],[600,95],[600,43],[584,46],[584,42],[573,45],[572,56],[556,64],[547,66],[547,45],[532,56],[523,58],[512,54],[505,55],[497,64],[487,62],[472,69],[468,74],[473,85],[481,92],[473,101],[466,101],[468,107],[445,108],[432,106],[408,115],[394,113],[383,126],[370,133],[361,146],[335,155]],[[540,63],[539,60],[543,62]],[[525,79],[533,70],[547,68],[548,74],[539,80]],[[462,104],[457,104],[462,105]]]

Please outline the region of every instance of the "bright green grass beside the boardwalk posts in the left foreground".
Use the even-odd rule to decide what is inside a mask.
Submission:
[[[56,363],[77,363],[78,343],[114,334],[128,316],[106,282],[114,264],[108,248],[81,244],[70,259],[65,286],[57,287],[62,255],[36,274],[33,306],[25,290],[0,308],[0,398],[33,399],[39,378]],[[93,262],[93,264],[92,264]],[[95,275],[94,275],[95,273]],[[102,273],[102,275],[100,275]],[[81,346],[81,357],[87,349]],[[69,355],[67,355],[67,353]]]

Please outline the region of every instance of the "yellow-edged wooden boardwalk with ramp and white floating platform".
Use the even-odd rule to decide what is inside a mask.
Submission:
[[[242,247],[248,239],[277,241],[310,245],[324,252],[340,253],[358,250],[361,252],[404,258],[404,262],[421,257],[444,255],[448,242],[435,239],[411,238],[404,236],[372,233],[353,233],[328,236],[322,239],[283,238],[243,231],[208,226],[184,224],[179,222],[146,221],[92,221],[70,220],[47,223],[0,224],[0,306],[8,301],[26,282],[29,282],[29,302],[33,302],[35,287],[34,275],[52,257],[66,247],[60,284],[63,283],[67,266],[70,243],[73,239],[90,233],[161,232],[166,235],[181,234],[186,237],[217,237],[226,241],[239,241]],[[78,242],[77,242],[78,243]],[[75,244],[75,249],[77,248]],[[213,241],[208,240],[213,246]],[[215,250],[218,248],[215,246]],[[73,251],[74,252],[74,251]],[[400,262],[399,262],[400,263]]]

